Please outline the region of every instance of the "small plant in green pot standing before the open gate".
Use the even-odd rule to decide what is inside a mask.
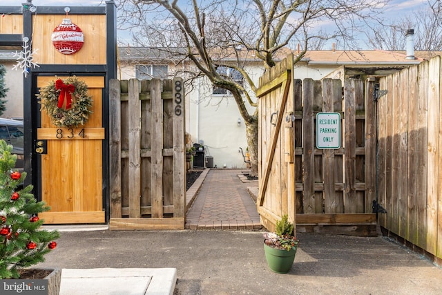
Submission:
[[[275,232],[264,234],[264,238],[265,258],[269,268],[279,274],[289,272],[299,241],[294,236],[294,227],[288,216],[282,216],[276,222]]]

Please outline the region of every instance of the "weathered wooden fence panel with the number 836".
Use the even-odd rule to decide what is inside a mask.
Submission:
[[[110,229],[184,229],[182,79],[110,81]]]

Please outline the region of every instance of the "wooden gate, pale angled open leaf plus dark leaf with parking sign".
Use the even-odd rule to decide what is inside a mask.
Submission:
[[[290,81],[293,57],[260,79],[258,212],[273,230],[288,214],[298,231],[376,234],[374,82]],[[287,82],[285,82],[287,80]],[[316,114],[340,113],[339,149],[316,148]]]

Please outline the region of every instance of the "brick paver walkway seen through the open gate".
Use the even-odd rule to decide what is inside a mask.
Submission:
[[[256,204],[243,183],[241,170],[211,169],[187,212],[186,229],[261,229]]]

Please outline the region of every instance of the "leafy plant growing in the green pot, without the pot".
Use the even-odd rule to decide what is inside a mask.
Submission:
[[[289,217],[284,215],[278,220],[278,222],[276,222],[274,233],[264,234],[264,242],[267,246],[290,251],[291,249],[296,249],[299,243],[298,239],[293,234],[293,224],[289,222]]]

